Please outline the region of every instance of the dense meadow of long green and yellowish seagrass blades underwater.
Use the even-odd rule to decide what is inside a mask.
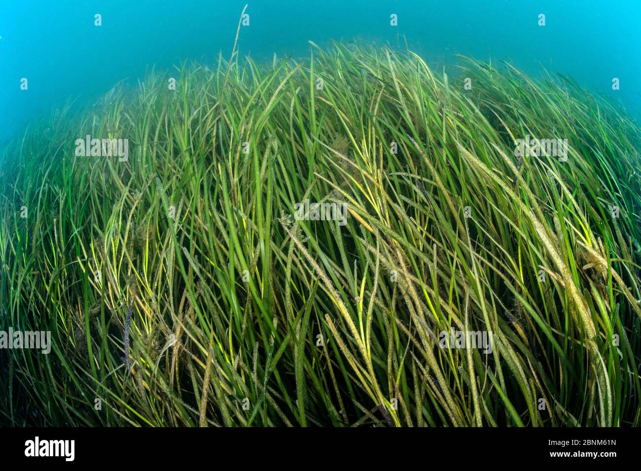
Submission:
[[[51,353],[0,350],[0,424],[638,426],[635,120],[510,63],[310,51],[153,70],[6,146],[0,330]]]

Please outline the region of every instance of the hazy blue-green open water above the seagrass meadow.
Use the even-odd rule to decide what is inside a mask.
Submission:
[[[54,104],[93,101],[152,66],[231,52],[246,1],[0,1],[0,141]],[[455,53],[541,65],[641,110],[641,0],[260,0],[248,3],[240,53],[308,54],[308,40],[403,44],[433,65]],[[100,14],[102,25],[96,26]],[[540,14],[545,26],[539,26]],[[397,15],[397,26],[390,24]],[[21,79],[28,89],[21,89]],[[619,78],[620,90],[612,90]]]

